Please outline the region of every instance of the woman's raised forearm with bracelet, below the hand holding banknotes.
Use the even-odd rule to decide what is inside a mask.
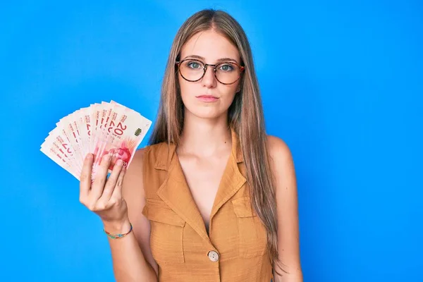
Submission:
[[[123,228],[104,226],[105,230],[129,230],[129,223]],[[147,262],[133,232],[123,238],[109,238],[116,282],[156,282],[157,274]]]

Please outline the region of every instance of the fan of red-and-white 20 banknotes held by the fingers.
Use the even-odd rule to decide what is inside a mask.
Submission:
[[[105,154],[112,156],[109,173],[118,159],[128,168],[151,124],[144,116],[117,102],[91,104],[61,118],[40,151],[78,180],[85,156],[94,154],[94,180]]]

